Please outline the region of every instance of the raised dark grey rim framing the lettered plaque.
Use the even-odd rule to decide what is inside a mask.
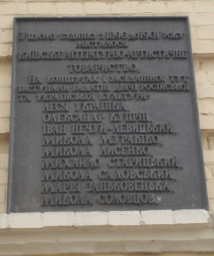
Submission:
[[[192,70],[192,79],[194,84],[194,97],[196,102],[196,115],[197,115],[197,124],[198,127],[196,128],[196,132],[199,137],[199,144],[200,144],[200,154],[201,154],[201,161],[202,161],[202,176],[203,176],[203,190],[204,190],[204,209],[209,211],[209,205],[208,205],[208,197],[207,197],[207,188],[206,188],[206,177],[205,177],[205,168],[204,168],[204,158],[203,158],[203,150],[202,150],[202,141],[201,141],[201,130],[200,130],[200,121],[199,121],[199,111],[198,111],[198,100],[197,100],[197,92],[196,92],[196,81],[195,81],[195,70],[194,70],[194,62],[193,62],[193,55],[192,55],[192,46],[191,46],[191,34],[190,34],[190,24],[189,24],[189,16],[188,15],[178,15],[178,16],[136,16],[136,15],[130,15],[130,16],[15,16],[13,17],[13,38],[15,38],[15,31],[16,31],[16,24],[19,20],[60,20],[60,19],[70,19],[70,20],[91,20],[91,19],[97,19],[97,20],[103,20],[103,19],[111,19],[111,20],[118,20],[118,19],[184,19],[187,22],[188,27],[188,44],[189,44],[189,50],[190,50],[190,63],[191,63],[191,70]],[[7,214],[12,213],[10,211],[11,208],[11,190],[12,190],[12,182],[11,182],[11,174],[13,169],[13,145],[14,145],[14,119],[15,119],[15,105],[14,105],[14,96],[15,96],[15,78],[16,73],[14,72],[15,67],[15,50],[16,50],[16,44],[12,43],[12,74],[11,74],[11,101],[10,101],[10,131],[9,131],[9,164],[8,164],[8,184],[7,184]],[[160,210],[160,209],[157,209]],[[117,210],[118,211],[118,210]],[[129,211],[129,210],[127,210]],[[146,210],[145,210],[146,211]],[[51,212],[51,211],[50,211]],[[57,211],[54,211],[57,212]],[[80,212],[80,211],[76,211]],[[88,211],[87,211],[88,212]],[[106,211],[109,212],[109,211]]]

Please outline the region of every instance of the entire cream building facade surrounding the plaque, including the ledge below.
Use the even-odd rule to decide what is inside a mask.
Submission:
[[[189,16],[210,212],[199,209],[6,215],[13,17],[156,15]],[[214,255],[212,211],[213,0],[0,0],[0,255]]]

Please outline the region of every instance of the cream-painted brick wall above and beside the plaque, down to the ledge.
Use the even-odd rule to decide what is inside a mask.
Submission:
[[[188,15],[210,210],[214,210],[214,1],[0,0],[0,213],[6,212],[13,16]]]

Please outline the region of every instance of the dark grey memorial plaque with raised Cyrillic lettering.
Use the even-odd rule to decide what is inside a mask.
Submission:
[[[8,213],[208,209],[188,17],[14,19]]]

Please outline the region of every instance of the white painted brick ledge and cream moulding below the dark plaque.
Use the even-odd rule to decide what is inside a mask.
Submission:
[[[214,215],[205,210],[0,215],[0,256],[213,255],[213,241]]]

